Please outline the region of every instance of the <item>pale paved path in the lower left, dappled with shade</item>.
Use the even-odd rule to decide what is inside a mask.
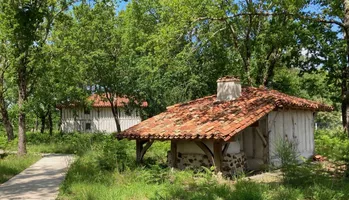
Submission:
[[[0,185],[0,199],[56,199],[74,157],[48,154]]]

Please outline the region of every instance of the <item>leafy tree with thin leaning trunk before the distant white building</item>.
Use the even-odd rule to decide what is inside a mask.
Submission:
[[[54,29],[64,35],[55,43],[65,43],[68,61],[76,61],[74,69],[85,82],[81,86],[89,93],[98,93],[111,105],[117,132],[121,132],[117,99],[127,96],[132,68],[120,60],[120,34],[117,24],[116,1],[82,1],[72,9],[70,24]],[[62,24],[61,24],[62,25]],[[61,26],[60,25],[60,26]],[[63,30],[64,29],[64,30]],[[56,34],[54,33],[54,34]],[[74,45],[69,45],[69,43]],[[133,98],[133,97],[131,97]]]

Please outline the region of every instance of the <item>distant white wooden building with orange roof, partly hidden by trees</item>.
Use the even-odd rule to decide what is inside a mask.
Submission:
[[[88,97],[90,106],[59,106],[61,110],[61,131],[63,132],[105,132],[117,131],[110,102],[102,95],[93,94]],[[121,130],[125,130],[141,122],[139,110],[127,110],[129,99],[115,98],[114,105],[118,108]],[[142,107],[147,103],[143,102]]]

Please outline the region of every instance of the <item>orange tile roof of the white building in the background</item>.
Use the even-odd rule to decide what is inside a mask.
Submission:
[[[105,96],[103,95],[102,97],[98,94],[93,94],[91,96],[88,97],[89,101],[92,101],[92,107],[110,107],[110,102],[105,98]],[[126,97],[118,97],[115,101],[114,101],[114,105],[117,105],[118,107],[123,107],[126,104],[128,104],[130,100]],[[142,103],[142,107],[147,107],[148,103],[147,102],[143,102]]]

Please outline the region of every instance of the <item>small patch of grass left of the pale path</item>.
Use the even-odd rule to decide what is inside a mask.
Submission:
[[[39,155],[28,154],[21,159],[17,155],[0,158],[0,183],[4,183],[41,158]]]

